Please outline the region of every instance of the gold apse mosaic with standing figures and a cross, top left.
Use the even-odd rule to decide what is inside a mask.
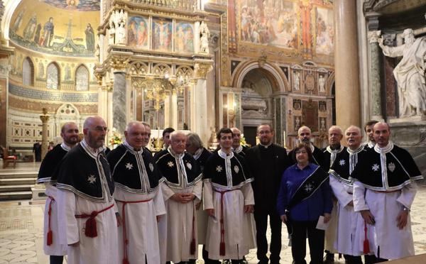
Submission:
[[[13,14],[9,37],[14,43],[40,53],[92,57],[97,33],[92,25],[99,24],[99,12],[84,7],[92,2],[99,1],[23,0]],[[62,9],[67,3],[77,5],[75,9]]]

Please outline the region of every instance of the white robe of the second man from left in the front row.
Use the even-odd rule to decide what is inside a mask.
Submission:
[[[129,263],[160,263],[160,246],[158,242],[158,226],[156,216],[165,214],[163,192],[158,188],[157,192],[151,194],[134,194],[116,187],[114,198],[119,201],[144,201],[134,204],[126,204],[126,238],[127,258]],[[116,202],[119,214],[123,218],[123,203]],[[165,217],[165,216],[162,216]],[[119,259],[120,263],[124,256],[123,226],[119,226]]]

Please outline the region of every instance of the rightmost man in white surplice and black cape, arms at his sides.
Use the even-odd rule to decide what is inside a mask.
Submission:
[[[373,127],[376,145],[361,155],[354,178],[354,209],[366,221],[370,251],[381,259],[414,255],[410,208],[422,175],[410,153],[394,145],[387,123]]]

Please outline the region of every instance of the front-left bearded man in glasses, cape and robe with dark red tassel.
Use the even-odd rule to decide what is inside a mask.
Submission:
[[[107,125],[99,116],[84,121],[84,139],[62,159],[58,176],[61,243],[68,263],[119,263],[114,182],[105,158]]]

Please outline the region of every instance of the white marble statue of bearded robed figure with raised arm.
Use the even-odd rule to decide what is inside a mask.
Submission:
[[[426,111],[426,38],[415,39],[411,28],[405,29],[403,36],[405,43],[398,47],[383,45],[383,38],[378,39],[378,45],[388,57],[403,56],[393,70],[398,82],[400,117],[420,116]]]

